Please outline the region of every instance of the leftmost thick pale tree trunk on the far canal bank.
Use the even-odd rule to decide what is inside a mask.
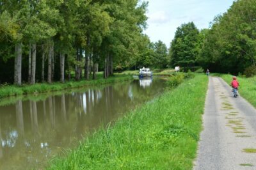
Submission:
[[[21,66],[22,66],[22,44],[15,44],[15,70],[14,84],[21,85]]]

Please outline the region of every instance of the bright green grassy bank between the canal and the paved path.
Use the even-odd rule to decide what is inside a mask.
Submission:
[[[197,75],[99,130],[48,169],[191,169],[207,77]]]

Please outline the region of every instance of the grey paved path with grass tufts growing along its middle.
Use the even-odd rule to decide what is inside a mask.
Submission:
[[[256,149],[256,109],[220,77],[209,77],[203,121],[194,169],[256,169],[256,153],[244,151]]]

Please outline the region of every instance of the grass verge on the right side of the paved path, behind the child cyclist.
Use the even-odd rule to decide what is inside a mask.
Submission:
[[[220,75],[220,77],[225,80],[228,84],[232,81],[232,75]],[[239,81],[239,94],[243,96],[248,102],[250,102],[254,107],[256,107],[256,77],[244,78],[237,77]]]

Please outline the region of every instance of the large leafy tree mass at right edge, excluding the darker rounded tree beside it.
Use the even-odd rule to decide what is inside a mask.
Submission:
[[[244,72],[256,61],[256,4],[254,0],[234,1],[217,16],[209,30],[202,32],[203,43],[198,62],[213,72]]]

